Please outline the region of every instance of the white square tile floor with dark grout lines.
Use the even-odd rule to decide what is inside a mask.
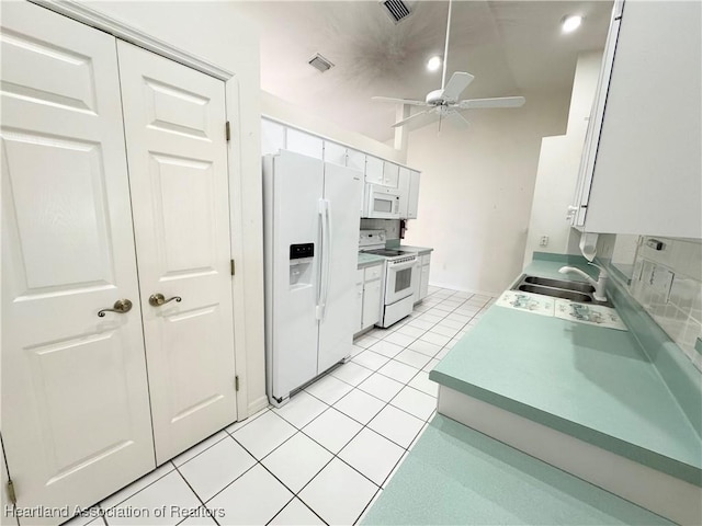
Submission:
[[[349,363],[290,403],[216,433],[71,526],[359,522],[434,413],[429,370],[492,301],[430,287],[411,317],[359,338]]]

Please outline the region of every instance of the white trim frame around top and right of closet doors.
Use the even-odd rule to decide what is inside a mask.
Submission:
[[[180,49],[171,44],[156,38],[144,31],[131,26],[118,19],[109,16],[92,8],[86,7],[76,0],[29,0],[31,3],[46,8],[77,22],[95,27],[112,36],[139,46],[148,52],[173,60],[196,71],[214,77],[225,83],[225,111],[226,118],[230,123],[231,138],[227,142],[227,175],[229,182],[229,236],[231,239],[231,259],[237,262],[236,273],[231,276],[231,299],[234,306],[234,359],[235,373],[239,378],[237,391],[237,421],[244,420],[254,412],[268,405],[265,395],[257,400],[251,400],[247,391],[247,355],[246,355],[246,307],[247,291],[263,296],[262,283],[247,286],[247,261],[262,260],[262,247],[260,256],[246,258],[244,251],[244,178],[241,171],[240,142],[237,140],[241,134],[239,118],[239,82],[236,73],[219,66]],[[225,130],[223,129],[224,134]],[[251,251],[249,251],[251,252]],[[256,279],[252,279],[256,282]],[[260,288],[260,290],[258,290]],[[258,309],[252,309],[256,313]],[[262,316],[262,313],[261,313]]]

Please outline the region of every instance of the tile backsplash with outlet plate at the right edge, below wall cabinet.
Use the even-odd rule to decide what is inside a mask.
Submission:
[[[702,241],[641,236],[629,291],[702,371]]]

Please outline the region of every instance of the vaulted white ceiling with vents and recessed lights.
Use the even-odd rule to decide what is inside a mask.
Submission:
[[[237,10],[261,34],[261,88],[316,115],[377,140],[393,137],[395,106],[373,95],[423,100],[441,88],[449,3],[406,1],[411,14],[395,24],[378,1],[244,1]],[[454,0],[448,77],[475,76],[463,98],[569,90],[577,54],[604,46],[611,1]],[[562,34],[567,14],[582,26]],[[307,62],[320,53],[335,67]],[[528,101],[529,103],[529,101]]]

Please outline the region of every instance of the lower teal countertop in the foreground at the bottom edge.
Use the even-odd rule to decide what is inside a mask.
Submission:
[[[671,524],[437,415],[363,524]]]

